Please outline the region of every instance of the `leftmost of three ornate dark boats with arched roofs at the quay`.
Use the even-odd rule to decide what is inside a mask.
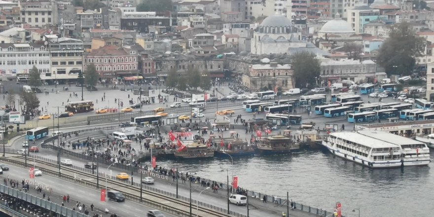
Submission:
[[[214,150],[202,143],[193,142],[180,147],[175,152],[176,158],[211,158],[214,157]]]

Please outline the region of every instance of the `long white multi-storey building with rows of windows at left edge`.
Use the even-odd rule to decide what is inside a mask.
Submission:
[[[0,75],[16,75],[26,80],[33,66],[41,74],[50,72],[50,53],[44,45],[0,43]]]

